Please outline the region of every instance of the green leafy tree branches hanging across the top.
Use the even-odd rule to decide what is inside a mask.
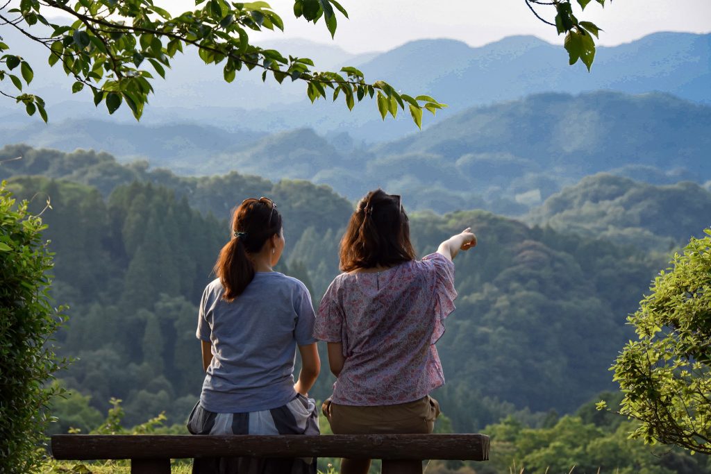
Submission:
[[[531,3],[543,4],[525,1],[530,7]],[[578,1],[584,8],[590,0]],[[171,67],[171,60],[178,52],[196,52],[206,64],[220,65],[226,82],[235,80],[243,68],[262,70],[264,81],[267,77],[279,84],[287,79],[303,81],[311,102],[329,96],[335,101],[343,95],[346,107],[353,109],[356,100],[375,98],[383,119],[387,114],[397,117],[400,110],[407,110],[418,127],[422,127],[423,110],[434,114],[437,109],[447,107],[427,95],[402,94],[382,80],[367,82],[363,72],[356,68],[320,72],[309,58],[285,57],[277,50],[250,43],[252,31],[284,30],[282,18],[264,1],[196,0],[194,11],[178,16],[156,6],[153,0],[21,0],[18,8],[8,9],[9,3],[6,1],[0,7],[0,25],[16,28],[43,45],[49,64],[60,64],[73,78],[72,92],[89,92],[97,106],[105,103],[109,114],[125,103],[134,117],[140,119],[154,90],[155,75],[165,78],[166,68]],[[589,68],[594,58],[594,42],[589,32],[597,36],[599,29],[592,23],[577,21],[570,0],[554,0],[551,4],[557,9],[558,31],[567,32],[565,48],[571,55],[571,64],[582,58]],[[72,17],[73,23],[48,21],[48,14],[56,15],[58,11]],[[538,16],[535,11],[534,14]],[[338,16],[348,18],[348,12],[336,0],[294,0],[294,15],[314,24],[323,19],[332,37],[336,34]],[[48,36],[46,28],[50,31]],[[38,112],[47,122],[43,99],[24,90],[34,77],[31,65],[13,54],[11,45],[2,38],[0,55],[0,95],[23,104],[29,115]],[[8,83],[3,82],[6,79],[18,94],[1,89]]]

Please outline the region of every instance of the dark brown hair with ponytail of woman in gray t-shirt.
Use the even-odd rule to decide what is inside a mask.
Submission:
[[[223,299],[233,301],[255,277],[247,254],[260,252],[272,235],[282,230],[282,215],[264,200],[246,200],[232,213],[232,238],[220,250],[215,274],[225,289]]]

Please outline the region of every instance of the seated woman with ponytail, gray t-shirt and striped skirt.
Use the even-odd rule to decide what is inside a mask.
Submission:
[[[269,198],[242,201],[232,236],[203,293],[197,337],[205,380],[188,419],[193,434],[319,434],[309,389],[321,368],[311,296],[274,271],[284,250],[282,216]],[[294,383],[294,355],[301,372]],[[316,460],[197,458],[193,473],[316,473]]]

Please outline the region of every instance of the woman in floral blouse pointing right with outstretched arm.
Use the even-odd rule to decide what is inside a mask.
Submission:
[[[328,343],[336,375],[324,415],[333,433],[432,433],[444,384],[434,343],[454,310],[454,263],[476,245],[469,228],[415,259],[399,195],[368,193],[341,239],[341,270],[319,306],[314,335]],[[420,461],[407,461],[422,472]],[[341,474],[368,473],[370,459],[341,460]]]

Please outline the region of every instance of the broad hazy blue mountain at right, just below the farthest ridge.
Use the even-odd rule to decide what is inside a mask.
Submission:
[[[461,112],[374,153],[434,153],[451,163],[510,153],[529,168],[582,177],[624,165],[711,177],[711,107],[670,95],[541,94]],[[522,169],[523,171],[523,169]]]

